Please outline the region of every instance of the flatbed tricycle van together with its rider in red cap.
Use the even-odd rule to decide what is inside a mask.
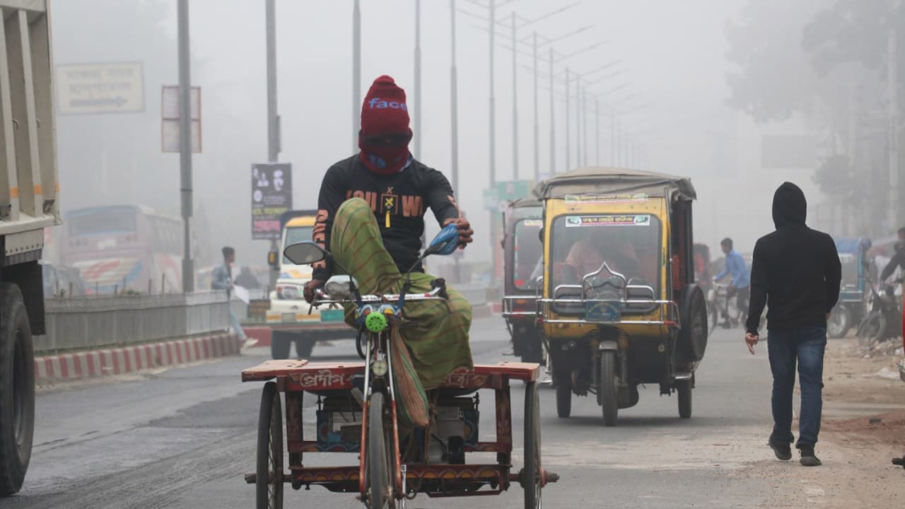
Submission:
[[[361,152],[325,174],[312,240],[284,250],[293,264],[313,264],[306,300],[342,311],[362,335],[364,361],[268,360],[243,370],[243,381],[266,382],[256,470],[245,476],[259,509],[282,507],[284,485],[357,493],[369,509],[388,509],[418,494],[496,495],[516,484],[524,507],[537,509],[541,488],[557,480],[540,462],[539,365],[474,364],[471,304],[424,273],[426,256],[464,248],[473,232],[443,174],[409,153],[408,120],[405,92],[377,78],[362,107]],[[428,208],[442,229],[422,249]],[[519,469],[510,380],[525,382]],[[479,430],[482,389],[494,393],[492,438]],[[302,417],[305,398],[316,399],[315,426]],[[476,452],[496,461],[468,462]],[[357,457],[319,466],[312,453]]]

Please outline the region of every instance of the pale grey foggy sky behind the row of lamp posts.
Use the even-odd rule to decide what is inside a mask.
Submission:
[[[138,2],[138,0],[131,0]],[[103,12],[90,8],[92,0],[52,0],[78,3],[85,16],[101,16]],[[512,10],[526,17],[545,14],[562,0],[518,0],[500,8],[500,17]],[[96,38],[104,47],[102,54],[80,53],[78,47],[68,45],[68,62],[144,61],[148,47],[158,43],[173,44],[176,35],[176,2],[167,11],[167,22],[161,40],[106,40],[103,30],[81,33],[81,37]],[[462,9],[481,13],[481,7],[463,0]],[[641,95],[626,106],[649,104],[643,110],[626,117],[625,125],[640,123],[638,137],[646,146],[646,169],[681,174],[694,179],[699,187],[699,213],[696,215],[698,240],[716,245],[730,225],[714,219],[713,214],[732,201],[726,190],[708,184],[708,179],[722,172],[735,175],[738,166],[738,144],[733,138],[742,114],[725,106],[728,95],[725,74],[727,41],[725,23],[738,14],[742,0],[639,0],[635,2],[586,0],[575,9],[539,22],[531,28],[538,33],[556,36],[574,30],[582,24],[595,28],[555,44],[558,51],[569,53],[590,43],[608,41],[590,53],[567,61],[575,72],[591,70],[603,63],[619,60],[626,72],[613,81],[597,84],[594,91],[605,91],[624,82],[629,83],[616,97],[639,92]],[[414,0],[362,1],[362,94],[370,82],[380,74],[394,76],[408,93],[410,110],[414,109]],[[250,240],[250,165],[266,159],[266,95],[264,62],[264,6],[252,0],[193,0],[191,9],[191,38],[195,68],[193,84],[203,89],[203,122],[205,152],[196,155],[196,204],[204,206],[211,226],[214,249],[231,244],[239,248],[242,264],[263,264],[267,249],[265,242]],[[277,1],[277,68],[279,112],[282,125],[281,161],[291,162],[294,169],[294,201],[297,208],[314,208],[317,190],[323,173],[333,162],[353,153],[353,100],[351,97],[351,11],[350,0],[332,2]],[[90,13],[90,14],[88,14]],[[450,161],[450,23],[449,2],[422,2],[422,153],[418,158],[440,169],[449,177]],[[507,18],[508,19],[508,18]],[[63,20],[56,16],[54,23]],[[67,16],[65,22],[77,20]],[[479,259],[488,253],[488,231],[484,224],[487,213],[481,210],[481,189],[488,182],[488,39],[489,35],[475,26],[470,16],[457,18],[459,72],[459,147],[462,189],[458,197],[462,208],[476,223],[476,243],[469,249],[469,259]],[[485,25],[485,24],[482,24]],[[520,34],[529,34],[531,28]],[[507,37],[508,28],[500,27]],[[167,38],[172,39],[166,41]],[[507,43],[499,39],[500,43]],[[55,40],[56,45],[61,44]],[[72,41],[67,41],[71,44]],[[56,48],[60,50],[60,48]],[[524,48],[529,51],[528,47]],[[497,114],[497,175],[498,179],[513,178],[511,164],[511,53],[498,45],[495,48],[496,114]],[[546,51],[541,52],[546,56]],[[166,84],[176,84],[176,53],[169,62],[160,62]],[[528,56],[519,55],[519,64],[530,65]],[[146,64],[147,65],[147,64]],[[548,64],[541,62],[546,73]],[[563,66],[557,66],[557,71]],[[600,74],[598,74],[600,75]],[[533,173],[533,90],[531,74],[519,69],[519,175],[531,178]],[[114,196],[67,197],[63,190],[64,208],[86,206],[91,200],[121,203],[125,197],[139,202],[148,198],[165,204],[178,212],[178,157],[159,154],[159,87],[146,77],[146,111],[142,114],[122,115],[123,129],[134,123],[147,136],[147,154],[142,158],[154,161],[157,179],[172,182],[169,197],[143,197],[140,187],[123,195],[108,190]],[[539,158],[541,172],[548,171],[548,82],[541,78],[539,91]],[[562,91],[562,83],[557,82]],[[602,99],[605,101],[605,99]],[[356,115],[360,100],[355,101]],[[564,103],[557,101],[557,170],[565,164]],[[574,110],[571,114],[573,145],[572,167],[575,158]],[[414,118],[414,114],[413,114]],[[69,117],[59,123],[61,138],[67,130],[80,129],[83,120]],[[148,126],[150,126],[148,128]],[[587,148],[589,163],[595,163],[594,122],[588,118]],[[600,121],[601,163],[608,164],[609,119]],[[414,128],[414,126],[413,126]],[[727,132],[730,134],[727,135]],[[753,141],[751,141],[753,142]],[[729,148],[723,145],[730,145]],[[414,145],[413,145],[414,149]],[[61,161],[62,170],[72,172],[62,177],[75,178],[80,168],[76,161]],[[807,180],[803,174],[800,180]],[[806,182],[805,182],[806,184]],[[166,184],[168,185],[168,184]],[[772,185],[772,183],[770,184]],[[701,192],[706,189],[709,193]],[[722,197],[717,196],[722,194]],[[718,201],[721,200],[721,201]],[[160,206],[160,205],[158,205]],[[753,245],[753,232],[770,226],[769,208],[762,217],[753,219],[752,238],[738,244]],[[427,216],[431,231],[435,231],[433,217]],[[737,228],[738,230],[738,228]],[[766,233],[763,231],[761,233]]]

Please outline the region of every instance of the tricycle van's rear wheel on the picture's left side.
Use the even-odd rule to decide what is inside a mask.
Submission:
[[[258,416],[257,509],[281,509],[283,487],[282,408],[277,384],[267,382]]]

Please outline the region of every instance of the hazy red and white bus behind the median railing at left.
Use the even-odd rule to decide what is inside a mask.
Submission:
[[[79,269],[85,293],[170,293],[182,289],[183,224],[134,205],[72,210],[61,262]]]

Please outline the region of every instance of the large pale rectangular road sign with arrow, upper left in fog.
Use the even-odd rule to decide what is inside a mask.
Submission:
[[[57,65],[56,85],[61,115],[145,110],[141,62]]]

